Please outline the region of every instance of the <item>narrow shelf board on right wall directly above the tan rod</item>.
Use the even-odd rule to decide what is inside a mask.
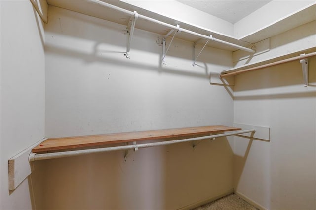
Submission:
[[[256,66],[260,66],[260,65],[264,65],[264,64],[269,64],[275,61],[279,61],[279,60],[283,60],[283,59],[287,59],[287,58],[291,58],[291,57],[295,57],[295,56],[299,56],[303,53],[307,54],[307,53],[311,53],[311,52],[315,52],[316,51],[316,47],[312,47],[306,50],[300,50],[297,52],[293,52],[293,53],[289,53],[289,54],[284,54],[284,55],[278,55],[276,57],[271,57],[265,60],[261,60],[261,61],[257,61],[255,63],[249,63],[246,65],[242,65],[242,66],[238,66],[238,67],[234,67],[228,70],[223,70],[221,73],[231,73],[231,72],[235,72],[235,71],[239,71],[239,70],[244,70],[247,68],[252,68],[252,67],[256,67]]]

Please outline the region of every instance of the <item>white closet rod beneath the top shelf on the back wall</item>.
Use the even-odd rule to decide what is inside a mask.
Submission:
[[[113,9],[113,10],[117,10],[119,12],[125,13],[125,14],[130,15],[130,16],[134,15],[134,12],[131,12],[129,10],[126,10],[126,9],[123,9],[123,8],[111,5],[109,3],[105,3],[105,2],[100,1],[100,0],[88,0],[88,1],[91,2],[91,3],[97,4],[99,6],[102,6],[102,7],[110,8],[110,9]],[[256,52],[253,49],[250,49],[250,48],[247,48],[247,47],[243,47],[243,46],[240,46],[240,45],[237,45],[237,44],[233,44],[233,43],[230,43],[230,42],[227,42],[227,41],[223,41],[223,40],[220,40],[220,39],[217,39],[217,38],[214,38],[214,37],[198,34],[196,32],[193,32],[193,31],[190,31],[190,30],[187,30],[187,29],[183,29],[183,28],[179,29],[177,26],[174,26],[174,25],[171,25],[171,24],[168,24],[168,23],[164,23],[162,21],[159,21],[159,20],[156,20],[156,19],[144,16],[144,15],[141,15],[141,14],[138,14],[138,19],[143,19],[143,20],[150,21],[152,23],[157,23],[157,24],[160,24],[162,26],[168,27],[170,29],[179,30],[179,32],[182,31],[182,32],[185,32],[187,34],[196,35],[196,36],[198,36],[200,38],[203,38],[203,39],[206,39],[206,40],[220,42],[222,44],[226,44],[226,45],[229,45],[229,46],[232,46],[232,47],[235,47],[237,49],[244,50],[244,51],[247,51],[247,52],[250,52],[250,53],[255,53]]]

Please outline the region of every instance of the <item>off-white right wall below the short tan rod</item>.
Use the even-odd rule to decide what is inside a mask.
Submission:
[[[291,48],[291,31],[281,36]],[[308,87],[299,60],[236,76],[234,122],[269,126],[271,141],[234,137],[234,188],[267,209],[316,208],[315,63]]]

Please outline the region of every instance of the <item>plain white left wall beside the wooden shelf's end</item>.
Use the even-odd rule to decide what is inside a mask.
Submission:
[[[3,210],[35,208],[40,177],[35,173],[37,183],[32,185],[29,177],[9,192],[8,159],[44,137],[43,42],[43,23],[30,1],[1,1],[0,208]]]

